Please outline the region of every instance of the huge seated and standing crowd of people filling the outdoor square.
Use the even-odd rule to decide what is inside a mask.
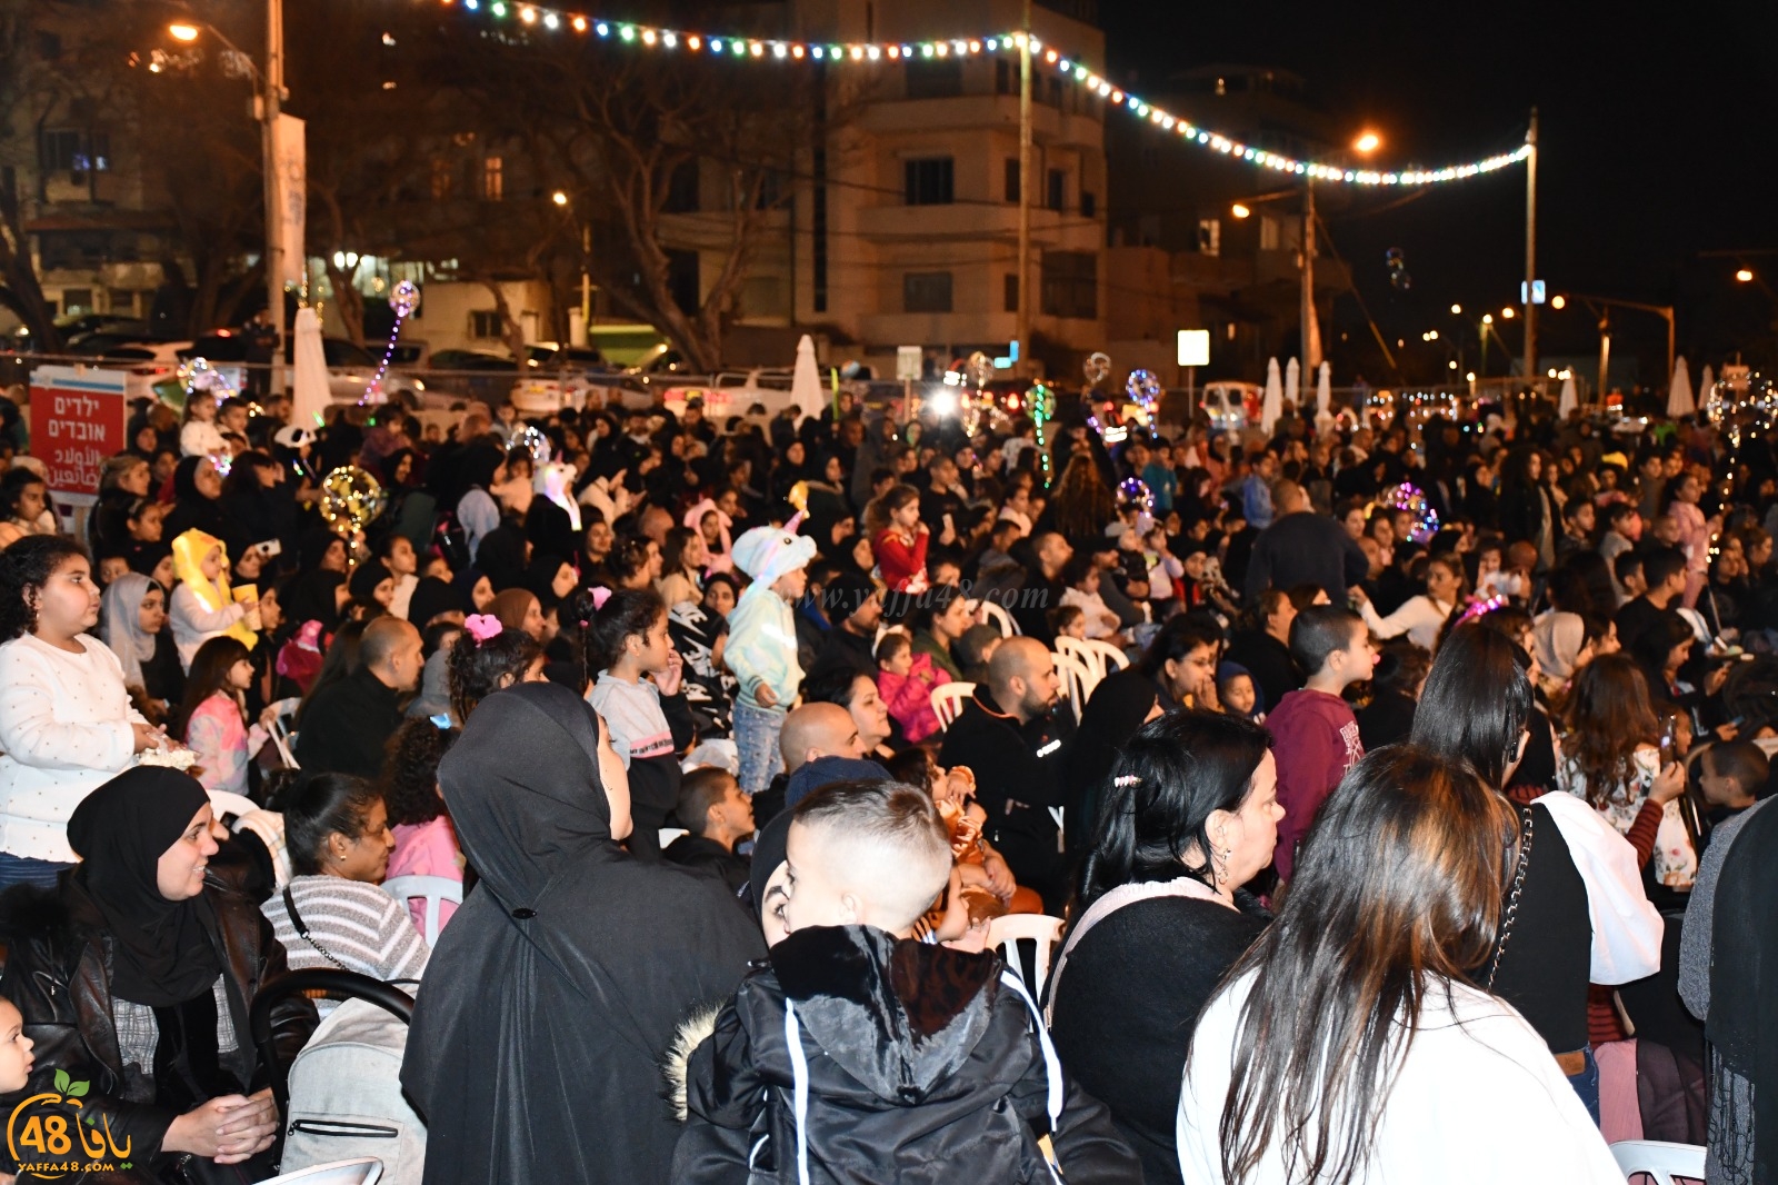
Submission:
[[[0,1105],[265,1180],[334,968],[427,1185],[1778,1180],[1769,425],[901,411],[5,418]]]

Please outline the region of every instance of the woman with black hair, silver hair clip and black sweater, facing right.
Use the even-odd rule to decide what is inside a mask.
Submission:
[[[1104,783],[1074,925],[1049,980],[1056,1052],[1141,1157],[1179,1181],[1179,1073],[1198,1011],[1269,915],[1241,891],[1278,838],[1262,728],[1213,712],[1150,721]]]

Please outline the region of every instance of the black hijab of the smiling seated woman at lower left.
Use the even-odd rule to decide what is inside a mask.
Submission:
[[[116,941],[112,995],[149,1007],[204,996],[222,973],[210,941],[210,904],[160,895],[160,856],[185,834],[210,799],[197,779],[164,765],[139,765],[89,794],[68,820],[80,854],[69,877]]]

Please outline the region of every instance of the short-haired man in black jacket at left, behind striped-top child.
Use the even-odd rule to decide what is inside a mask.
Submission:
[[[364,626],[359,669],[315,692],[297,731],[297,763],[308,770],[375,778],[384,742],[404,722],[402,697],[420,687],[420,630],[400,617]]]

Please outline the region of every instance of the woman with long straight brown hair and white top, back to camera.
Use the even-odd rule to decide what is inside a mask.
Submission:
[[[1378,749],[1321,806],[1277,922],[1198,1018],[1179,1167],[1230,1185],[1618,1185],[1549,1048],[1472,986],[1517,861],[1465,763]]]

